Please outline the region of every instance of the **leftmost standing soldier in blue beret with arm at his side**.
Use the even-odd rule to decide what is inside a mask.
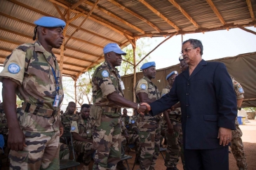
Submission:
[[[10,169],[59,169],[62,75],[53,48],[60,48],[65,22],[41,17],[34,22],[38,41],[25,43],[6,57],[0,73],[8,122]],[[16,113],[16,94],[24,104]]]

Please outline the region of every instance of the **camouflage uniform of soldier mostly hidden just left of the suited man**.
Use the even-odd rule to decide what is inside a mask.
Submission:
[[[170,89],[170,85],[163,88],[161,96],[170,92]],[[183,169],[185,169],[184,150],[182,145],[181,109],[176,108],[175,111],[170,111],[168,115],[170,122],[173,125],[174,133],[172,135],[168,133],[166,120],[163,120],[164,127],[166,128],[165,136],[167,143],[165,166],[167,169],[175,169],[175,167],[177,167],[177,162],[179,162],[179,157],[181,157]],[[165,119],[165,117],[163,117],[163,119]]]

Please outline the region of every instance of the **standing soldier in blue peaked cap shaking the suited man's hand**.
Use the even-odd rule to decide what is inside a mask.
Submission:
[[[119,45],[109,43],[103,49],[105,62],[93,73],[93,106],[90,117],[95,121],[93,146],[96,150],[93,169],[116,169],[121,160],[121,106],[139,112],[147,107],[123,97],[124,85],[115,68],[121,65],[121,55],[126,55]]]

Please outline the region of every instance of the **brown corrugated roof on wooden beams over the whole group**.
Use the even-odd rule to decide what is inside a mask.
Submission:
[[[34,36],[34,21],[43,15],[61,17],[54,4],[62,13],[79,0],[6,0],[0,6],[0,63],[11,50],[22,43],[32,43]],[[114,2],[113,2],[114,1]],[[139,0],[100,0],[97,8],[86,22],[86,14],[92,10],[95,0],[86,0],[78,7],[70,9],[70,18],[78,13],[85,13],[69,23],[65,37],[65,51],[63,58],[63,74],[78,77],[83,71],[104,61],[102,48],[107,43],[118,43],[123,48],[128,45],[128,39],[143,36],[170,36],[171,34],[187,34],[200,31],[211,31],[242,26],[255,25],[255,19],[244,0],[212,0],[215,8],[223,17],[226,24],[222,24],[213,9],[205,0],[175,0],[187,14],[198,24],[199,29],[177,9],[169,0],[145,0],[163,17],[173,22],[180,31],[170,23],[153,13]],[[119,8],[115,3],[133,13]],[[252,13],[256,16],[256,1],[251,0]],[[107,10],[105,13],[103,10]],[[119,18],[114,17],[117,16]],[[67,15],[65,15],[67,17]],[[142,17],[142,18],[141,18]],[[150,23],[151,24],[150,24]],[[81,24],[81,27],[79,28]],[[156,31],[156,29],[160,29]],[[144,34],[142,32],[144,31]],[[73,35],[72,35],[73,34]],[[53,49],[60,60],[60,49]]]

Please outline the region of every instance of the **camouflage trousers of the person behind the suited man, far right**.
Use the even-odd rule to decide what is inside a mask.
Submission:
[[[243,141],[241,139],[243,132],[239,128],[237,118],[235,120],[236,130],[232,130],[232,139],[230,142],[231,152],[236,159],[236,165],[239,169],[247,169],[247,163],[245,160],[245,152],[243,150]]]

